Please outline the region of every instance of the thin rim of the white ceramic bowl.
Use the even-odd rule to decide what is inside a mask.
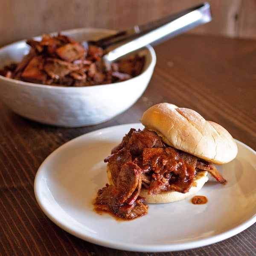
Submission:
[[[59,31],[59,32],[51,32],[49,33],[49,35],[57,35],[58,33],[63,33],[63,34],[76,34],[78,32],[86,32],[86,31],[95,31],[95,32],[108,32],[108,33],[115,33],[117,32],[116,30],[113,30],[113,29],[103,29],[103,28],[76,28],[76,29],[68,29],[68,30],[63,30],[63,31]],[[39,36],[35,36],[35,37],[32,37],[33,39],[40,39],[42,35],[39,35]],[[8,44],[6,46],[3,46],[3,47],[0,47],[0,53],[1,51],[3,51],[4,49],[8,48],[8,47],[11,47],[15,44],[22,44],[22,43],[26,43],[26,40],[27,39],[23,39],[23,40],[20,40],[20,41],[16,41],[16,42],[13,42],[11,44]],[[155,66],[156,64],[156,53],[154,51],[154,48],[151,46],[151,45],[146,45],[145,47],[143,48],[140,48],[138,49],[137,51],[134,51],[134,52],[139,52],[141,51],[142,49],[147,49],[151,55],[151,62],[148,64],[148,67],[143,70],[142,73],[140,73],[140,75],[138,76],[135,76],[131,79],[128,79],[128,80],[125,80],[125,81],[120,81],[120,82],[116,82],[116,83],[111,83],[113,85],[121,85],[123,83],[127,83],[128,81],[132,81],[134,79],[136,79],[137,77],[140,77],[140,76],[143,76],[143,74],[151,67],[151,66]],[[48,88],[48,89],[51,89],[51,90],[82,90],[84,88],[99,88],[99,87],[102,87],[102,86],[106,86],[106,85],[111,85],[111,84],[96,84],[96,85],[90,85],[90,86],[81,86],[81,87],[73,87],[73,86],[55,86],[55,85],[48,85],[48,84],[36,84],[36,83],[31,83],[31,82],[25,82],[25,81],[21,81],[21,80],[17,80],[17,79],[11,79],[11,78],[7,78],[5,76],[1,76],[0,75],[0,81],[8,81],[9,83],[13,83],[13,84],[22,84],[24,86],[29,86],[29,87],[38,87],[38,88]]]

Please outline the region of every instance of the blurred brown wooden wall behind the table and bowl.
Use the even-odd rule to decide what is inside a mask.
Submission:
[[[0,46],[80,27],[123,30],[203,0],[0,0]],[[256,38],[255,0],[208,0],[212,21],[191,33]]]

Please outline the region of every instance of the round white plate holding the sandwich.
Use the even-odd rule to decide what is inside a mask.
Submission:
[[[84,134],[44,160],[35,177],[35,196],[55,224],[102,246],[163,252],[212,244],[256,222],[256,152],[239,141],[236,159],[218,166],[227,184],[210,178],[198,192],[208,198],[207,204],[194,205],[190,199],[150,204],[147,215],[132,221],[96,213],[93,200],[107,183],[103,159],[130,128],[143,126],[119,125]]]

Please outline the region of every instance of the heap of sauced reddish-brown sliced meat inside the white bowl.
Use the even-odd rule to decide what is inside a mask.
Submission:
[[[110,84],[138,76],[145,58],[134,55],[113,63],[106,71],[101,59],[103,50],[89,44],[85,49],[65,35],[42,36],[41,41],[28,39],[31,47],[19,64],[10,64],[0,75],[26,82],[56,86],[90,86]]]

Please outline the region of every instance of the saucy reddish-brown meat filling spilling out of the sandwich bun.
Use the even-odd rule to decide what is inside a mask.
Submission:
[[[219,183],[226,182],[212,163],[167,145],[147,129],[131,128],[104,162],[108,163],[112,184],[99,189],[96,209],[126,219],[147,214],[148,205],[140,197],[142,188],[148,195],[186,193],[205,171]]]

